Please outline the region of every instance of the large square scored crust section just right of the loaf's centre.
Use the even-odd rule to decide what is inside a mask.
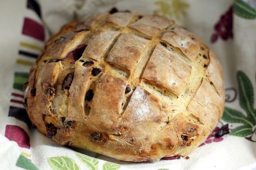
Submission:
[[[180,69],[182,68],[182,69]],[[166,87],[176,96],[184,91],[191,66],[162,45],[156,45],[142,78]]]

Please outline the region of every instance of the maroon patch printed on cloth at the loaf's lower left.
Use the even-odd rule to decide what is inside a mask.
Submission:
[[[23,128],[16,125],[6,125],[5,137],[17,142],[19,147],[30,149],[29,135]]]

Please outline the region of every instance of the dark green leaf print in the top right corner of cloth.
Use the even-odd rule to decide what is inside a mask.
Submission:
[[[242,0],[234,0],[234,12],[236,15],[246,18],[255,19],[256,10]]]

